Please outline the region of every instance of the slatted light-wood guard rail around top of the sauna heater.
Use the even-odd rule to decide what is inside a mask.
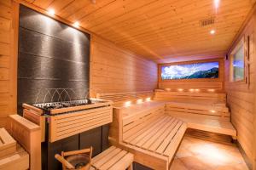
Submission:
[[[49,142],[55,142],[112,122],[112,104],[113,102],[104,100],[103,103],[96,103],[93,105],[81,105],[72,108],[57,109],[56,112],[73,112],[70,114],[56,114],[54,111],[54,115],[49,116]],[[44,142],[46,118],[43,115],[42,110],[32,105],[23,104],[22,106],[24,108],[23,116],[41,127],[41,141]],[[75,109],[84,110],[75,111]]]

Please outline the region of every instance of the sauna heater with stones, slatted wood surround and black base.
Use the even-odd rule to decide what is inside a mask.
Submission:
[[[112,103],[102,99],[78,99],[27,105],[23,116],[41,129],[43,169],[61,169],[55,154],[93,147],[93,156],[108,148],[108,123]]]

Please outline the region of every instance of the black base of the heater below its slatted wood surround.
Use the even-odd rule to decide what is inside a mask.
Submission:
[[[49,126],[48,126],[49,128]],[[92,156],[100,154],[103,150],[108,148],[108,129],[109,125],[96,127],[84,133],[79,133],[61,139],[53,143],[42,143],[42,160],[44,170],[61,170],[61,163],[55,160],[55,154],[60,154],[61,151],[81,150],[93,147]]]

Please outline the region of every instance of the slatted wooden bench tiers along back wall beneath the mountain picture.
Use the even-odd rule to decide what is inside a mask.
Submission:
[[[154,99],[166,101],[166,113],[187,122],[189,128],[227,134],[236,139],[224,93],[155,90]]]

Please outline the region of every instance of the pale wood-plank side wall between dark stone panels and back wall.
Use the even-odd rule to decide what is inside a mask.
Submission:
[[[154,90],[157,65],[100,37],[91,37],[90,88],[94,93]]]

